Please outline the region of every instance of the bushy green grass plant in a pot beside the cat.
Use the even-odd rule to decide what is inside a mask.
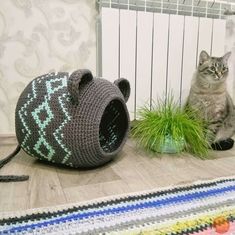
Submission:
[[[182,108],[170,94],[159,99],[151,110],[144,106],[138,111],[139,120],[132,125],[131,135],[147,151],[157,153],[189,152],[207,158],[210,148],[206,140],[205,123],[197,113]]]

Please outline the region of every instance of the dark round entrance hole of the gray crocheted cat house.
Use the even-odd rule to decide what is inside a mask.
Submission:
[[[128,117],[120,100],[112,100],[102,115],[99,142],[102,150],[112,153],[122,144],[128,131]]]

